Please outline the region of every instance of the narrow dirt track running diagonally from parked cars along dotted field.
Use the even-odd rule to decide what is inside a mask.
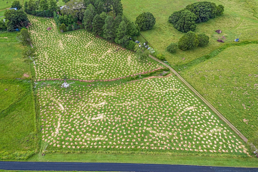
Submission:
[[[202,101],[204,101],[204,103],[207,104],[207,106],[210,107],[210,109],[213,110],[213,112],[215,112],[225,123],[227,123],[229,125],[229,127],[234,131],[236,132],[236,134],[241,137],[245,142],[247,142],[247,138],[239,131],[236,129],[235,126],[233,126],[233,124],[231,124],[220,112],[218,112],[217,109],[215,109],[214,106],[212,106],[199,92],[197,92],[186,80],[184,80],[183,77],[180,76],[180,74],[178,74],[172,67],[170,67],[169,65],[167,65],[166,63],[158,60],[157,58],[149,55],[149,57],[151,57],[152,59],[156,60],[157,62],[160,62],[162,63],[163,65],[167,66],[172,72],[174,72],[174,74],[177,75],[177,77],[183,81],[183,83],[186,84],[186,86],[189,87],[189,89],[191,89]]]

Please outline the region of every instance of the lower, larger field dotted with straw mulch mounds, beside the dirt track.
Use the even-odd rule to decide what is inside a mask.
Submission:
[[[40,86],[37,95],[48,150],[245,155],[239,137],[172,76]]]

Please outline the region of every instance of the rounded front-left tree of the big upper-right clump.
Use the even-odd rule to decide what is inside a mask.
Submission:
[[[175,11],[170,17],[169,22],[174,25],[178,31],[194,31],[196,28],[195,20],[197,17],[189,10]]]

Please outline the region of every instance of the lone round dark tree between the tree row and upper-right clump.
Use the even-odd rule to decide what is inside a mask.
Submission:
[[[143,12],[136,17],[135,24],[139,25],[141,31],[151,29],[156,23],[156,19],[150,12]]]

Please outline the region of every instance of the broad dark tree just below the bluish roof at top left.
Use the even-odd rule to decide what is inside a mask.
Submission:
[[[23,10],[7,10],[4,12],[8,31],[28,25],[28,16]]]

